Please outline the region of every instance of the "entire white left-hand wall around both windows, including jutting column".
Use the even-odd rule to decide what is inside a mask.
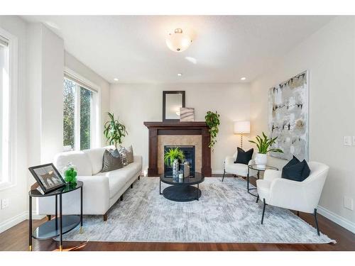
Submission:
[[[8,208],[0,210],[1,233],[28,217],[28,188],[35,182],[28,167],[51,162],[62,151],[64,66],[102,88],[102,116],[109,111],[109,83],[72,55],[65,55],[62,38],[43,24],[0,16],[0,28],[18,38],[17,112],[13,118],[17,123],[16,186],[0,190],[0,199],[10,201]]]

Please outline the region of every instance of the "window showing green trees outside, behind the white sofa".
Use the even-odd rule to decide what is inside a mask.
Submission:
[[[85,150],[94,139],[96,92],[75,79],[64,79],[64,149]]]

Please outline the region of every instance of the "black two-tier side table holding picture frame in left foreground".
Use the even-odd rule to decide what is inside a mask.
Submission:
[[[48,194],[41,194],[38,189],[31,189],[29,196],[29,238],[28,249],[32,251],[32,238],[43,240],[59,238],[59,250],[62,251],[62,235],[72,231],[80,223],[80,233],[82,233],[82,185],[81,181],[76,184],[67,184],[65,187],[57,189]],[[80,215],[62,215],[62,194],[80,189]],[[55,196],[55,218],[42,223],[32,231],[32,198]],[[58,196],[59,196],[59,216],[58,216]]]

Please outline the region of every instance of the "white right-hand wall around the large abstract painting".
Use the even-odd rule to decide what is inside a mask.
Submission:
[[[268,131],[268,89],[304,70],[310,71],[310,160],[330,167],[321,210],[351,228],[355,211],[343,200],[355,200],[355,146],[344,147],[343,136],[355,135],[354,16],[334,18],[252,82],[252,135]]]

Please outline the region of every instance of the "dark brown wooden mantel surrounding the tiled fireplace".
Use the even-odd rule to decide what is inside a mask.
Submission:
[[[211,148],[209,128],[204,121],[196,122],[144,122],[149,131],[148,177],[158,176],[158,135],[201,135],[202,168],[205,177],[211,177]],[[197,170],[198,171],[198,170]]]

